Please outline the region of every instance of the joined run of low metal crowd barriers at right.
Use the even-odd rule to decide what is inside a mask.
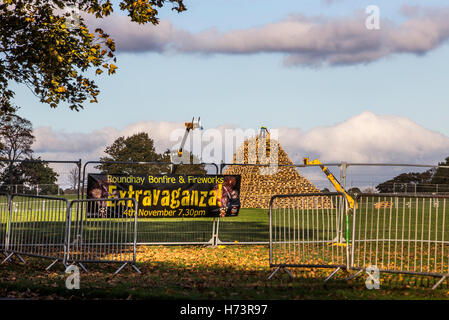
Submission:
[[[290,203],[281,203],[288,199]],[[311,200],[312,199],[312,200]],[[355,270],[449,277],[449,196],[360,194],[353,211],[343,194],[274,196],[270,267]]]

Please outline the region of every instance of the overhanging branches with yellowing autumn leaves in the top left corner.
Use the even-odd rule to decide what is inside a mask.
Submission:
[[[119,7],[132,22],[156,25],[158,9],[167,3],[177,12],[186,10],[183,0],[123,0]],[[75,9],[81,15],[71,27]],[[83,15],[102,19],[113,11],[110,0],[0,1],[1,110],[11,107],[11,82],[26,85],[53,108],[67,103],[79,111],[86,101],[98,102],[98,86],[86,73],[114,74],[116,44],[102,29],[89,30]]]

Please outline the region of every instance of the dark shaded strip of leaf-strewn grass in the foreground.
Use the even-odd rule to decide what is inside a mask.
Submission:
[[[214,249],[211,249],[214,250]],[[0,266],[0,293],[22,298],[64,299],[444,299],[447,284],[435,291],[436,279],[382,275],[380,290],[367,290],[364,276],[352,281],[336,279],[324,284],[330,269],[291,269],[295,279],[278,273],[271,280],[271,269],[244,265],[203,265],[192,267],[182,261],[145,262],[142,274],[127,267],[114,276],[117,265],[88,264],[81,273],[81,289],[65,287],[61,264],[44,271],[48,260],[27,258],[27,264]]]

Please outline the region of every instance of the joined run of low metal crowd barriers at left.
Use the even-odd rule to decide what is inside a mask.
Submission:
[[[108,210],[98,202],[109,201]],[[8,205],[9,202],[9,205]],[[78,263],[122,263],[136,271],[138,210],[135,199],[72,200],[33,195],[0,195],[0,249],[6,258],[52,259],[64,266]],[[86,270],[87,271],[87,270]]]

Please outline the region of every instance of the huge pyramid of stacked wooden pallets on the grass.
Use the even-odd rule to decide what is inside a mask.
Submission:
[[[301,176],[280,143],[269,133],[246,140],[234,154],[233,163],[224,175],[242,176],[240,201],[243,208],[268,208],[275,194],[317,193],[320,190]],[[256,165],[254,165],[256,164]],[[260,166],[260,164],[271,164]],[[277,166],[278,164],[279,166]],[[296,208],[330,208],[328,197],[290,198],[276,201],[277,206]]]

